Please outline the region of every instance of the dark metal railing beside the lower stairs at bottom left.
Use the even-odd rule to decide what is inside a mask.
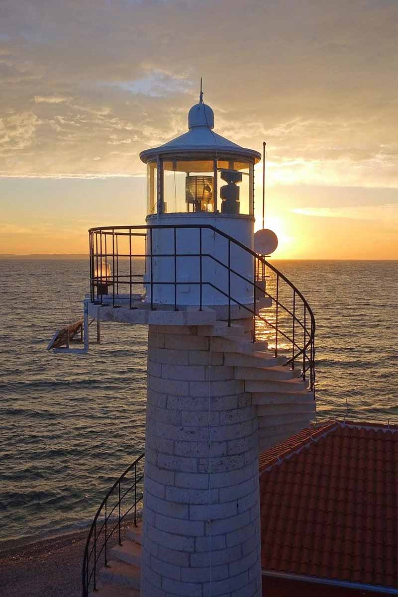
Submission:
[[[144,454],[112,485],[94,516],[83,556],[82,597],[97,589],[98,570],[107,566],[109,547],[122,544],[122,522],[137,526],[137,505],[143,499]]]

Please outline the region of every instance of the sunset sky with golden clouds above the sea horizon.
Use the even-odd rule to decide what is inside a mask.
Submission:
[[[138,154],[202,76],[215,131],[267,143],[274,257],[398,259],[397,56],[397,0],[2,0],[0,253],[143,224]]]

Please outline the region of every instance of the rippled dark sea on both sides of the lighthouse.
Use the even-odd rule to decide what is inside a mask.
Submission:
[[[398,261],[273,263],[316,317],[317,419],[398,423]],[[0,547],[86,526],[144,448],[147,328],[46,350],[88,276],[88,260],[0,260]]]

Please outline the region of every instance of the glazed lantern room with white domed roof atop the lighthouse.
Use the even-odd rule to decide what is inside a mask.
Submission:
[[[189,110],[188,128],[140,153],[147,164],[147,221],[155,214],[253,217],[253,167],[260,153],[214,133],[214,113],[202,97]]]

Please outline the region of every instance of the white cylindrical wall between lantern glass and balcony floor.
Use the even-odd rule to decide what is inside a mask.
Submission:
[[[246,247],[253,247],[254,219],[251,216],[232,216],[229,214],[162,214],[161,216],[147,217],[148,224],[163,225],[186,225],[186,224],[209,224],[214,226]],[[228,264],[228,241],[221,235],[211,230],[202,230],[202,254],[211,254],[221,263]],[[199,229],[177,229],[176,230],[177,253],[198,254],[200,253]],[[200,280],[200,259],[199,257],[177,257],[174,260],[174,230],[154,229],[152,231],[152,252],[155,255],[152,259],[153,281],[163,282],[161,285],[153,286],[153,302],[163,304],[174,304],[174,282],[176,272],[179,282],[199,282]],[[150,253],[150,232],[147,235],[147,253]],[[159,254],[166,254],[167,257],[156,257]],[[249,280],[253,280],[253,258],[242,248],[231,243],[230,265],[232,269]],[[151,260],[147,258],[146,301],[150,301],[150,272]],[[209,257],[202,257],[202,281],[211,282],[215,287],[228,294],[229,276],[226,267],[221,266]],[[253,292],[250,284],[232,273],[230,275],[231,296],[242,304],[252,303]],[[200,302],[199,285],[185,284],[177,287],[177,304],[198,305]],[[202,304],[228,304],[228,298],[220,291],[210,285],[202,286]],[[232,303],[233,304],[233,303]]]

